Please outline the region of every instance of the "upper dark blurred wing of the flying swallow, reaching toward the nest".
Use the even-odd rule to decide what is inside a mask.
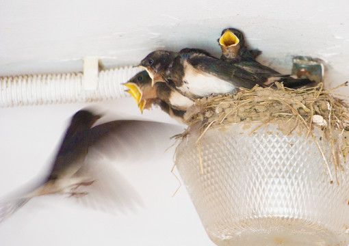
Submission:
[[[90,149],[116,162],[142,162],[156,158],[170,147],[170,137],[183,126],[142,120],[116,120],[94,126],[89,131]],[[90,152],[89,149],[89,152]]]

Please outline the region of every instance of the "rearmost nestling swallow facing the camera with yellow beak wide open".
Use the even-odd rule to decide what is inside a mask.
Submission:
[[[264,66],[256,61],[258,50],[249,50],[246,46],[244,33],[235,28],[228,28],[222,31],[218,44],[222,49],[220,59],[227,61],[239,68],[261,77],[264,85],[272,85],[274,82],[283,81],[285,87],[301,87],[313,83],[310,79],[295,79],[289,74],[281,74],[276,70]]]

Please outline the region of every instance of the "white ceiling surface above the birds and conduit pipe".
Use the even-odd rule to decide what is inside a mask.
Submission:
[[[207,49],[225,27],[242,29],[261,61],[287,72],[292,55],[326,61],[349,78],[349,1],[2,1],[0,76],[70,72],[84,56],[107,68],[138,64],[154,49]],[[329,82],[328,82],[329,83]]]

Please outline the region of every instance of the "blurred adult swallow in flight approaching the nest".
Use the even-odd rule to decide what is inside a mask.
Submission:
[[[73,115],[49,174],[34,185],[25,185],[20,192],[2,197],[0,221],[31,198],[55,193],[73,197],[92,195],[94,197],[87,203],[94,207],[99,205],[93,201],[95,198],[104,198],[107,200],[105,204],[116,207],[127,205],[131,201],[129,195],[132,189],[113,169],[101,165],[103,157],[114,157],[120,162],[144,157],[149,159],[154,155],[152,150],[161,148],[159,141],[164,136],[179,132],[174,125],[140,120],[114,120],[93,126],[100,118],[100,114],[88,110],[80,110]],[[153,141],[154,137],[156,141]],[[153,147],[154,144],[157,147]]]

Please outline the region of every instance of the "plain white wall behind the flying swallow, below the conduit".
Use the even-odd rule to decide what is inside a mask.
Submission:
[[[0,109],[0,196],[50,166],[70,116],[86,105]],[[140,118],[131,98],[94,105],[122,118]],[[146,111],[142,118],[172,120],[159,111]],[[173,152],[160,151],[155,162],[116,163],[142,200],[135,209],[110,214],[67,196],[36,197],[0,223],[0,245],[213,245],[185,187],[172,197],[179,187],[170,172]]]

